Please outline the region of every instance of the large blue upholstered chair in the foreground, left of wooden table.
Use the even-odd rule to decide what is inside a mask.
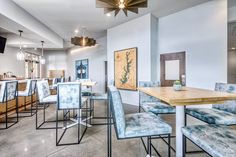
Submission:
[[[127,114],[121,100],[120,92],[114,87],[109,86],[109,109],[111,109],[113,123],[117,139],[128,138],[148,138],[147,154],[151,156],[151,139],[153,136],[168,136],[168,154],[170,156],[170,134],[172,128],[160,117],[151,112]],[[108,114],[109,115],[109,114]],[[110,118],[109,118],[110,119]],[[111,123],[109,122],[109,127]],[[108,128],[108,156],[111,156],[111,129]]]

